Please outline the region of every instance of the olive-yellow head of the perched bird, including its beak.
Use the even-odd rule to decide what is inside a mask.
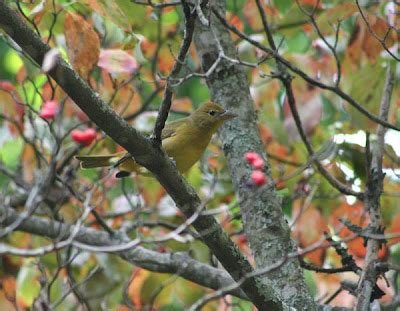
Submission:
[[[226,120],[237,117],[237,114],[225,110],[213,102],[206,102],[195,110],[191,118],[196,126],[216,131]]]

